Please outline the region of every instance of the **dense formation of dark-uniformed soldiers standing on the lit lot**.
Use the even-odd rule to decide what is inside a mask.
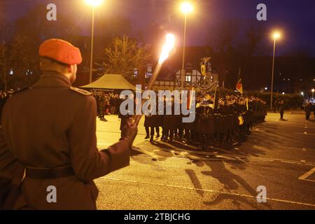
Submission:
[[[174,97],[170,100],[174,102]],[[235,95],[221,97],[215,102],[214,95],[206,94],[196,97],[195,111],[193,123],[183,123],[182,115],[145,116],[145,139],[153,141],[155,132],[156,138],[160,137],[162,127],[162,141],[186,141],[199,146],[200,150],[231,144],[236,135],[250,134],[253,124],[265,121],[267,104],[258,97]]]

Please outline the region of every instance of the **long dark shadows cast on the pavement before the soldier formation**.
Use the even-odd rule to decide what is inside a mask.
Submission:
[[[247,137],[238,137],[235,140],[235,144],[225,144],[219,146],[213,146],[209,148],[208,151],[200,151],[197,146],[190,146],[184,144],[181,141],[153,141],[145,142],[145,145],[155,146],[156,149],[147,155],[155,155],[156,158],[153,161],[165,161],[168,158],[181,157],[190,160],[188,165],[195,165],[197,167],[209,167],[209,171],[200,172],[204,176],[209,176],[213,179],[218,180],[223,188],[219,190],[220,192],[211,193],[211,197],[207,196],[207,201],[204,202],[206,205],[219,204],[224,200],[232,200],[239,209],[241,209],[241,204],[247,204],[253,209],[272,209],[270,204],[261,203],[255,201],[255,197],[258,195],[256,189],[252,188],[248,182],[241,176],[233,173],[233,170],[246,170],[248,167],[249,159],[248,157],[261,157],[265,155],[265,151],[262,150],[260,146],[281,143],[283,140],[279,140],[279,133],[277,132],[278,127],[273,125],[266,125],[264,123],[260,125],[255,125],[255,128],[264,129],[264,132],[255,132],[253,137],[251,135]],[[257,134],[258,133],[258,134]],[[259,141],[255,144],[248,144],[248,140],[258,139]],[[243,146],[246,144],[246,150],[237,151],[235,148]],[[142,148],[142,147],[141,147]],[[245,148],[245,146],[243,147]],[[269,148],[268,148],[269,149]],[[272,147],[270,147],[272,149]],[[137,150],[136,150],[137,151]],[[185,152],[183,154],[183,152]],[[134,153],[133,155],[146,154],[145,152]],[[138,160],[138,162],[141,162]],[[202,190],[202,184],[198,179],[197,174],[193,169],[186,169],[186,174],[190,178],[191,183],[193,183],[196,193],[201,197],[205,198],[205,192]],[[239,197],[239,195],[233,195],[233,193],[239,192],[239,190],[246,190],[247,195],[253,197]],[[224,194],[221,192],[227,192]],[[210,200],[209,200],[210,199]]]

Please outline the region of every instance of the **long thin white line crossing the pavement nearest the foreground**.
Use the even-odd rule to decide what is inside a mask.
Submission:
[[[315,169],[315,168],[314,168]],[[111,177],[106,177],[102,176],[99,179],[108,179],[111,181],[123,181],[123,182],[130,182],[130,183],[141,183],[141,184],[146,184],[146,185],[151,185],[151,186],[161,186],[161,187],[167,187],[167,188],[181,188],[181,189],[186,189],[186,190],[201,190],[204,192],[209,192],[209,193],[217,193],[217,194],[222,194],[222,195],[232,195],[232,196],[239,196],[239,197],[248,197],[248,198],[253,198],[255,199],[256,196],[253,195],[244,195],[244,194],[238,194],[238,193],[230,193],[230,192],[224,192],[221,190],[209,190],[209,189],[201,189],[201,188],[191,188],[191,187],[184,187],[184,186],[174,186],[174,185],[169,185],[169,184],[162,184],[162,183],[152,183],[152,182],[144,182],[144,181],[132,181],[132,180],[123,180],[123,179],[116,179],[116,178],[111,178]],[[289,203],[289,204],[300,204],[304,206],[309,206],[309,207],[315,207],[315,204],[308,204],[304,202],[295,202],[295,201],[290,201],[290,200],[281,200],[281,199],[276,199],[276,198],[269,198],[267,197],[267,201],[274,201],[274,202],[284,202],[284,203]]]

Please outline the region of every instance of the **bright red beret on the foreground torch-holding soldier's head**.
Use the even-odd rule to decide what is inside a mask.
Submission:
[[[82,56],[79,48],[61,39],[49,39],[39,47],[39,56],[49,57],[64,64],[80,64]]]

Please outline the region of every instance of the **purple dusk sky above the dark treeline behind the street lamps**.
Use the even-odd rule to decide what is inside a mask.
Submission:
[[[83,34],[90,31],[90,8],[83,0],[0,0],[6,8],[6,17],[15,20],[40,3],[56,3],[57,10],[80,21]],[[132,22],[132,35],[147,36],[147,27],[156,22],[174,32],[181,44],[183,15],[179,13],[177,0],[105,0],[97,8],[97,19],[102,16],[120,15]],[[195,11],[188,18],[188,45],[205,45],[211,41],[223,20],[232,19],[249,24],[257,22],[256,6],[267,5],[266,43],[272,45],[269,32],[280,29],[279,55],[293,50],[308,49],[315,56],[315,0],[195,0]],[[45,19],[45,18],[43,18]],[[242,28],[240,28],[242,29]],[[210,34],[210,35],[209,35]],[[215,35],[214,35],[215,36]]]

